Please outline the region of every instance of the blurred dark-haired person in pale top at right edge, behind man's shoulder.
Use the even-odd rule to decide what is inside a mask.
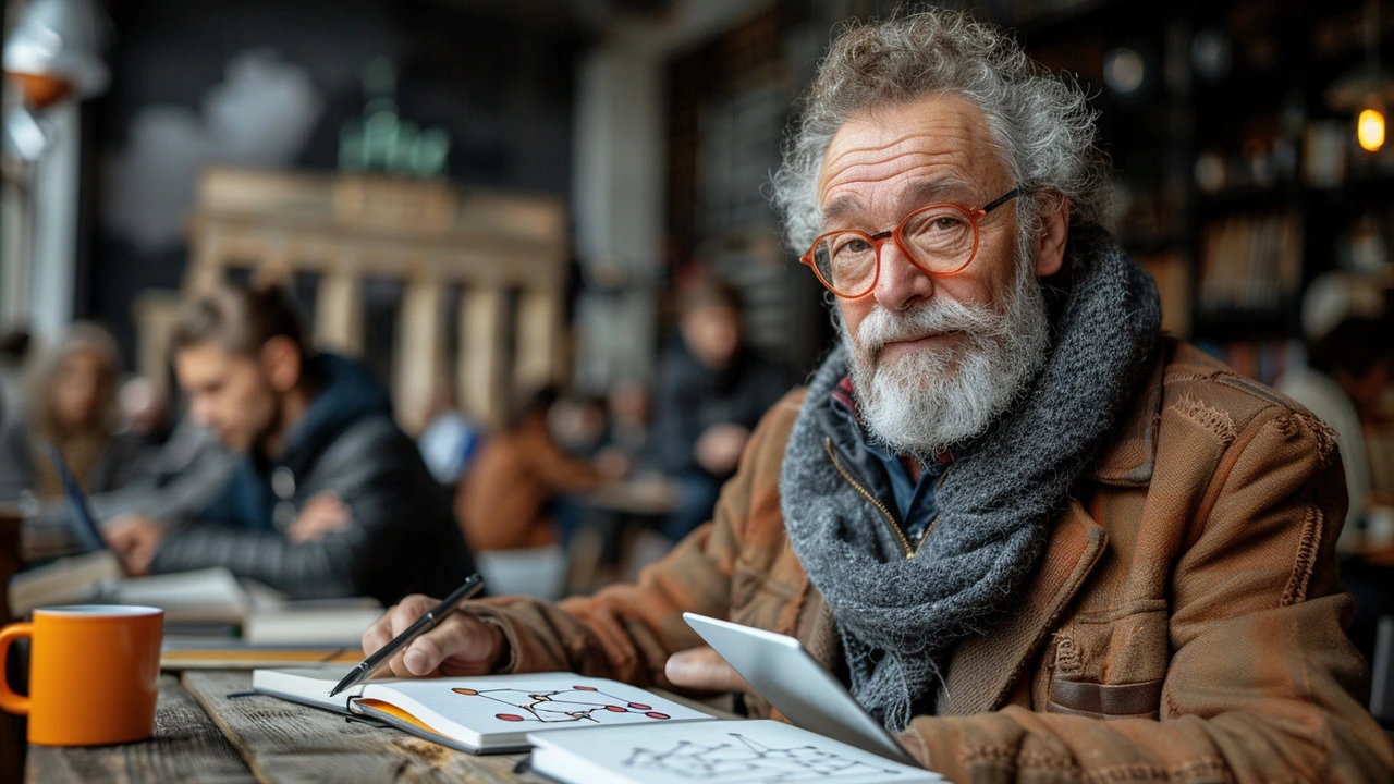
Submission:
[[[1394,372],[1394,324],[1348,318],[1308,349],[1306,367],[1291,368],[1278,379],[1278,392],[1302,403],[1335,431],[1345,465],[1349,508],[1337,547],[1358,544],[1361,522],[1370,504],[1370,463],[1365,448],[1362,412],[1372,412]]]

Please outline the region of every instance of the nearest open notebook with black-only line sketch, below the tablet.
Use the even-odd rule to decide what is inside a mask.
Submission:
[[[930,784],[910,767],[779,721],[531,732],[533,770],[566,784]]]

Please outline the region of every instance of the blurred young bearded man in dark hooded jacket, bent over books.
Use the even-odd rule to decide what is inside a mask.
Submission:
[[[392,604],[474,571],[388,392],[358,363],[315,353],[284,292],[229,287],[188,306],[174,370],[190,416],[241,458],[192,519],[107,532],[131,573],[226,566],[294,598]]]

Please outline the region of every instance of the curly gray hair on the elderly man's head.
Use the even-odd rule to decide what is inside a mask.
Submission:
[[[859,112],[933,93],[959,93],[983,110],[1023,191],[1023,236],[1039,230],[1043,198],[1068,199],[1073,223],[1098,220],[1108,165],[1094,146],[1098,113],[1085,91],[1027,57],[1004,31],[934,8],[852,24],[818,64],[771,183],[793,252],[809,250],[821,227],[818,172],[838,128]]]

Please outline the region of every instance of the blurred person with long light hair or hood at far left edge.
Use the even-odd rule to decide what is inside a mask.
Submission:
[[[120,432],[120,371],[116,342],[84,322],[31,364],[22,412],[0,431],[0,501],[24,491],[40,502],[63,498],[50,444],[88,492],[116,490],[138,473],[141,445]]]

